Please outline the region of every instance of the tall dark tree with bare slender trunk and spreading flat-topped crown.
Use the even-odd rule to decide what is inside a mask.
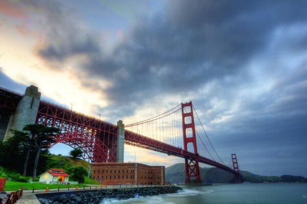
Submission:
[[[33,166],[33,179],[36,179],[36,169],[40,156],[40,151],[42,149],[48,148],[50,143],[55,142],[53,136],[59,133],[59,129],[57,129],[56,127],[44,126],[42,124],[27,124],[25,125],[23,130],[30,132],[31,140],[37,148]]]

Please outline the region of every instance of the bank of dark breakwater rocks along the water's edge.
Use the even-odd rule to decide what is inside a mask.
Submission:
[[[83,203],[103,203],[103,200],[110,198],[129,199],[140,196],[160,195],[166,193],[177,193],[182,190],[178,186],[161,186],[146,188],[126,188],[126,189],[101,189],[83,192],[68,192],[53,194],[37,194],[37,198],[42,204],[83,204]]]

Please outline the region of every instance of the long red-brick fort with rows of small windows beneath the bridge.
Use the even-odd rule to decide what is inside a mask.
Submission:
[[[165,167],[140,163],[92,163],[92,179],[102,185],[165,184]]]

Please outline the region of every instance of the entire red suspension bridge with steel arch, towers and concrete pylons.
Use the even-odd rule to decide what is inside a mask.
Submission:
[[[115,125],[42,100],[37,90],[30,86],[23,95],[0,87],[0,139],[10,136],[9,129],[21,130],[29,123],[22,122],[26,120],[22,115],[32,114],[32,123],[58,127],[56,143],[81,148],[84,160],[123,162],[123,144],[127,144],[184,158],[186,183],[202,183],[199,163],[229,171],[241,182],[236,155],[231,155],[231,166],[218,157],[192,102],[124,126],[122,121]]]

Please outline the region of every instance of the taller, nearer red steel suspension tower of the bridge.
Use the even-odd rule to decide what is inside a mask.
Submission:
[[[195,124],[193,116],[192,101],[181,104],[182,111],[182,129],[183,129],[183,143],[184,150],[188,151],[188,144],[193,146],[196,158],[185,157],[185,183],[186,184],[202,184],[199,167],[199,154],[196,145]],[[189,145],[189,146],[191,146]],[[194,177],[195,180],[191,180]]]

